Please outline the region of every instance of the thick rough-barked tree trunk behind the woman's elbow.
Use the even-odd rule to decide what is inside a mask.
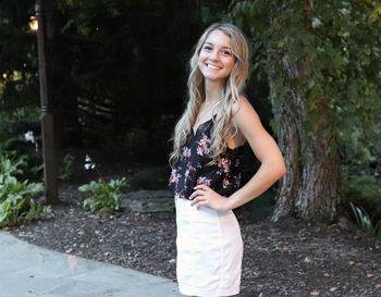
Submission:
[[[288,59],[283,59],[281,64],[283,73],[290,77],[290,86],[295,78],[300,79],[303,71],[292,65]],[[321,98],[316,100],[312,111],[307,111],[307,97],[296,87],[291,87],[293,90],[286,98],[280,99],[283,95],[278,94],[275,78],[274,75],[269,77],[270,97],[287,174],[280,183],[272,220],[292,214],[308,220],[332,221],[340,202],[340,171],[328,107]],[[306,125],[308,121],[311,128]]]

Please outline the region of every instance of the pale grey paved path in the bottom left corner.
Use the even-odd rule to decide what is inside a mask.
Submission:
[[[0,297],[180,297],[171,280],[51,251],[0,231]]]

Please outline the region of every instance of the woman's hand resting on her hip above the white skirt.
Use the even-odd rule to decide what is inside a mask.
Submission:
[[[194,189],[195,191],[189,197],[190,206],[195,206],[197,209],[207,206],[219,211],[230,210],[228,198],[219,195],[207,185],[197,185]]]

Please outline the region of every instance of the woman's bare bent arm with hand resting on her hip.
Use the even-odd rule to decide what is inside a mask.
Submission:
[[[226,211],[241,207],[266,191],[272,184],[281,178],[285,172],[282,153],[263,128],[258,114],[246,98],[241,98],[234,107],[233,123],[237,126],[239,135],[245,138],[255,156],[260,161],[260,168],[248,183],[231,195],[228,199],[222,197],[207,185],[197,185],[189,199],[197,209],[200,206]]]

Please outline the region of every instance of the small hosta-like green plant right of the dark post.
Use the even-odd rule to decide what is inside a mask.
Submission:
[[[128,186],[128,182],[125,177],[122,177],[110,182],[100,178],[98,182],[93,181],[78,187],[81,191],[90,193],[90,197],[84,201],[84,209],[106,212],[119,210],[120,191],[126,186]]]

